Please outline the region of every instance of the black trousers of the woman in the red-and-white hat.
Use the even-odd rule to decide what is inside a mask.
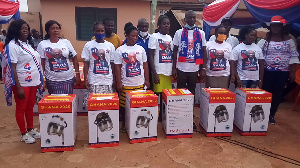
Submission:
[[[264,73],[263,89],[272,93],[270,116],[275,116],[282,100],[283,90],[290,76],[288,71],[267,71]]]

